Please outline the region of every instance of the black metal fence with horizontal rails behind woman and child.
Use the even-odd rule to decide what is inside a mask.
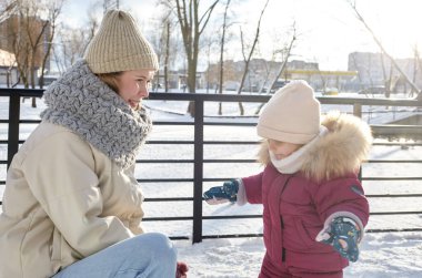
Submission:
[[[8,124],[8,135],[7,140],[1,140],[0,145],[7,145],[7,158],[0,159],[0,165],[10,165],[13,155],[17,153],[19,145],[23,143],[20,138],[20,126],[22,124],[38,124],[39,120],[29,120],[21,117],[21,100],[22,97],[41,97],[42,90],[24,90],[24,89],[0,89],[0,96],[9,99],[9,112],[8,117],[0,119],[0,124]],[[251,121],[235,121],[228,117],[219,116],[207,116],[204,113],[204,104],[209,102],[242,102],[242,103],[264,103],[269,100],[269,95],[231,95],[231,94],[190,94],[190,93],[152,93],[150,94],[150,100],[153,101],[175,101],[175,102],[192,102],[194,104],[194,117],[185,116],[183,120],[178,121],[154,121],[154,125],[159,126],[191,126],[193,128],[193,140],[151,140],[148,144],[160,145],[192,145],[193,155],[192,158],[147,158],[138,159],[137,163],[148,164],[148,163],[165,163],[165,164],[192,164],[193,173],[192,177],[179,177],[179,178],[142,178],[138,181],[140,183],[191,183],[192,184],[192,197],[157,197],[147,198],[145,202],[192,202],[192,216],[174,216],[174,217],[147,217],[145,222],[180,222],[188,220],[192,222],[192,234],[191,235],[177,235],[173,239],[192,239],[193,243],[199,243],[207,238],[230,238],[230,237],[257,237],[262,236],[262,234],[257,233],[243,233],[237,235],[204,235],[202,230],[203,220],[210,219],[242,219],[242,218],[260,218],[261,215],[224,215],[224,216],[207,216],[203,215],[202,210],[202,192],[204,182],[220,182],[225,181],[230,177],[204,177],[203,169],[207,164],[223,164],[223,163],[253,163],[254,159],[251,158],[240,158],[240,159],[207,159],[204,158],[204,146],[207,145],[254,145],[258,141],[207,141],[204,140],[204,127],[205,126],[254,126],[257,117],[252,117]],[[351,107],[351,113],[363,116],[368,112],[365,106],[391,106],[391,107],[412,107],[420,110],[422,106],[421,102],[413,100],[386,100],[386,99],[351,99],[351,97],[319,97],[321,104],[323,105],[348,105]],[[224,120],[225,119],[225,120]],[[421,146],[422,143],[418,143],[422,138],[422,128],[420,125],[390,125],[390,124],[379,124],[371,125],[373,134],[375,137],[412,137],[416,138],[412,143],[403,142],[381,142],[375,143],[375,145],[416,145]],[[390,163],[416,163],[422,165],[421,159],[370,159],[369,164],[390,164]],[[4,167],[4,171],[6,168]],[[421,173],[421,172],[420,172]],[[2,173],[6,176],[6,173]],[[364,181],[421,181],[422,176],[391,176],[391,177],[376,177],[376,176],[361,176],[363,183]],[[6,181],[0,181],[0,186],[4,186]],[[406,194],[369,194],[369,198],[406,198],[415,197],[421,198],[421,193],[406,193]],[[405,212],[373,212],[371,215],[393,215],[400,217],[401,215],[422,215],[422,209],[418,210],[405,210]],[[384,229],[369,229],[368,233],[383,233],[383,231],[422,231],[419,227],[399,227],[399,228],[384,228]]]

